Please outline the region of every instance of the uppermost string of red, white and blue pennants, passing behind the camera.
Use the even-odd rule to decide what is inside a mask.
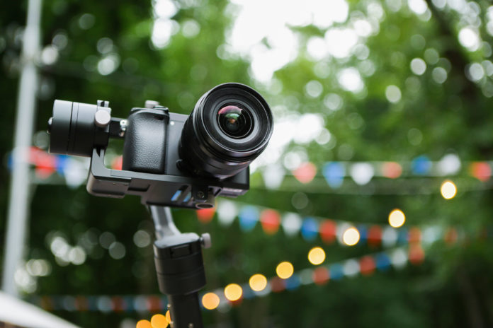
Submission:
[[[69,187],[83,184],[89,170],[89,159],[47,153],[40,148],[30,147],[26,156],[35,168],[35,175],[40,182],[50,183],[50,177],[56,172],[64,177]],[[114,154],[106,155],[106,162],[113,170],[121,170],[122,158]],[[11,156],[8,167],[11,168]],[[399,177],[450,177],[467,175],[480,182],[486,182],[492,176],[493,161],[462,162],[455,154],[443,156],[441,160],[432,161],[427,156],[418,156],[410,161],[366,161],[344,162],[331,161],[317,167],[312,162],[301,163],[294,170],[286,172],[281,165],[261,168],[263,183],[268,189],[278,189],[285,176],[290,175],[301,184],[308,184],[320,176],[331,189],[340,188],[345,179],[350,177],[356,185],[367,185],[374,177],[397,179]],[[53,182],[53,181],[52,181]]]

